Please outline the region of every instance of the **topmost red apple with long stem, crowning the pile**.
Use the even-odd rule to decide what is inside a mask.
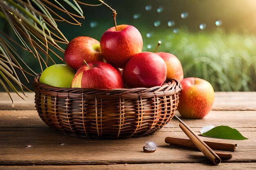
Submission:
[[[132,55],[142,51],[143,41],[139,31],[130,25],[108,29],[101,37],[101,53],[112,66],[124,68]]]

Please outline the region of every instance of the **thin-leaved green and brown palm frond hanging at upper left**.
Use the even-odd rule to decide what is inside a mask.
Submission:
[[[83,18],[83,10],[80,4],[97,6],[100,4],[86,4],[78,0],[1,0],[0,17],[8,21],[19,42],[15,42],[8,35],[0,31],[0,85],[9,94],[8,86],[12,91],[18,91],[25,95],[25,87],[19,79],[16,70],[20,70],[28,81],[26,75],[36,75],[29,66],[17,54],[12,44],[18,44],[19,48],[29,51],[36,57],[40,68],[47,67],[48,60],[55,55],[59,60],[57,51],[64,52],[61,44],[67,44],[65,35],[58,29],[56,21],[69,24],[81,25],[77,18]],[[71,9],[72,12],[67,9]],[[21,64],[25,65],[25,71]],[[16,87],[18,87],[18,90]],[[26,87],[25,87],[26,88]],[[11,97],[11,96],[10,96]]]

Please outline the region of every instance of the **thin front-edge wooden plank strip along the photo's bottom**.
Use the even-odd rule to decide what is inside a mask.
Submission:
[[[203,163],[147,163],[78,166],[0,166],[0,170],[255,170],[255,167],[256,163],[221,163],[219,166]]]

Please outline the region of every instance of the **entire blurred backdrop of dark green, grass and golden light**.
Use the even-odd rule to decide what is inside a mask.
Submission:
[[[82,1],[82,0],[81,0]],[[98,4],[97,0],[83,2]],[[256,91],[256,1],[255,0],[105,0],[117,11],[117,24],[130,24],[141,32],[143,51],[176,55],[184,77],[209,81],[215,91]],[[114,26],[106,6],[81,6],[81,26],[57,22],[67,40],[90,36],[100,40]],[[72,10],[72,9],[70,9]],[[0,19],[0,30],[15,38],[9,23]],[[67,44],[63,44],[65,49]],[[63,57],[62,52],[56,53]],[[37,59],[22,49],[18,54],[36,73]],[[63,63],[57,57],[56,63]],[[49,65],[51,65],[49,60]],[[33,76],[24,84],[33,89]],[[2,89],[3,90],[3,89]]]

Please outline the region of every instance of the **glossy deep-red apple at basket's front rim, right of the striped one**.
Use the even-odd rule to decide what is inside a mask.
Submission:
[[[123,70],[123,79],[127,86],[153,87],[161,86],[166,79],[166,64],[155,53],[142,52],[133,55]]]

